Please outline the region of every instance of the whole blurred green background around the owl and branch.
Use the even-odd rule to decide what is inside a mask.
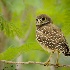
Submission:
[[[62,29],[70,46],[70,0],[0,0],[0,60],[45,62],[49,53],[35,40],[35,19],[47,14]],[[55,56],[52,62],[55,63]],[[61,64],[70,57],[60,55]],[[16,65],[0,62],[0,70],[70,70],[68,67]]]

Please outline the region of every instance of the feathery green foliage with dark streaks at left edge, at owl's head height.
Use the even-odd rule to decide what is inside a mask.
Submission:
[[[11,37],[16,35],[19,37],[22,36],[22,31],[17,26],[15,26],[15,24],[4,20],[2,16],[0,16],[0,30],[4,31],[6,35]]]

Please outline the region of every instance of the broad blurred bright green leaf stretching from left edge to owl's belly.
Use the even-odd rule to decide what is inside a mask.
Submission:
[[[0,60],[12,60],[21,55],[22,53],[29,52],[32,50],[39,50],[44,52],[44,50],[37,42],[26,43],[21,47],[9,47],[6,51],[0,54]]]

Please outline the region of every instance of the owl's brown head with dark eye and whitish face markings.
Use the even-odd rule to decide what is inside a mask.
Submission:
[[[36,25],[38,26],[50,23],[52,23],[51,18],[45,14],[41,14],[36,18]]]

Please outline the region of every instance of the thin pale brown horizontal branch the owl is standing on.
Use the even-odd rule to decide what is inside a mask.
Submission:
[[[7,64],[40,64],[44,65],[44,62],[34,62],[34,61],[28,61],[28,62],[13,62],[13,61],[6,61],[6,60],[1,60],[3,63]],[[57,65],[57,64],[49,64],[47,66],[55,66],[55,67],[70,67],[70,65]]]

